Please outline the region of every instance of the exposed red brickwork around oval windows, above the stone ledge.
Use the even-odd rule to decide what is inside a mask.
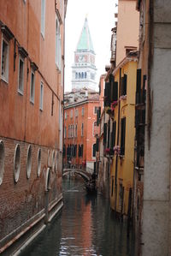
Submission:
[[[5,235],[20,227],[32,216],[44,209],[45,176],[48,167],[48,150],[50,150],[50,165],[52,148],[43,146],[32,146],[32,171],[27,179],[27,148],[28,143],[17,140],[3,140],[5,146],[5,171],[0,193],[0,240]],[[21,146],[21,171],[19,181],[14,180],[14,155],[15,146]],[[41,149],[41,172],[38,177],[38,149]],[[57,151],[56,151],[57,152]],[[60,167],[59,167],[60,168]],[[50,173],[49,202],[56,199],[62,193],[61,186],[62,172],[56,170]],[[1,244],[0,244],[1,245]]]

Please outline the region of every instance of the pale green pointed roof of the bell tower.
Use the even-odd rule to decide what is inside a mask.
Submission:
[[[79,39],[79,43],[77,45],[76,51],[93,51],[94,52],[87,18],[85,18],[85,23],[80,34],[80,39]]]

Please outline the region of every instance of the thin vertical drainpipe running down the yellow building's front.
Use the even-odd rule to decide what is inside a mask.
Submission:
[[[121,68],[120,68],[120,77],[119,77],[119,95],[118,98],[121,96]],[[120,107],[121,102],[119,100],[118,104],[118,124],[117,124],[117,144],[119,145],[119,139],[120,139]],[[118,171],[118,155],[116,155],[115,158],[115,213],[116,213],[116,205],[117,205],[117,171]]]

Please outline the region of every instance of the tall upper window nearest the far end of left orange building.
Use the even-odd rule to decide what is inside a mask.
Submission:
[[[60,23],[56,19],[56,65],[61,70],[62,63],[62,40],[60,32]]]

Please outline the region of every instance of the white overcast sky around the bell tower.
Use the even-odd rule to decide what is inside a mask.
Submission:
[[[97,85],[110,59],[111,28],[115,27],[117,0],[68,0],[65,38],[65,92],[71,91],[74,51],[87,15],[96,53]]]

